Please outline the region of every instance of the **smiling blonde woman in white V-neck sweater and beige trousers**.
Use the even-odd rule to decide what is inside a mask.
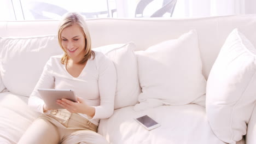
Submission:
[[[113,63],[91,50],[91,38],[83,16],[68,13],[59,26],[64,55],[53,56],[28,99],[32,109],[43,113],[27,129],[19,143],[108,143],[97,134],[99,119],[113,114],[117,81]],[[57,100],[63,110],[50,110],[38,88],[73,89],[78,103]]]

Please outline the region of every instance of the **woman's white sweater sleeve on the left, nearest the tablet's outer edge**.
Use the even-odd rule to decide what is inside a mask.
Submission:
[[[43,112],[44,101],[40,97],[38,93],[38,88],[54,88],[54,77],[53,77],[53,69],[52,69],[52,61],[51,58],[45,64],[43,72],[37,82],[36,87],[34,87],[33,92],[28,99],[28,106],[31,107],[32,110],[35,110],[40,113]]]

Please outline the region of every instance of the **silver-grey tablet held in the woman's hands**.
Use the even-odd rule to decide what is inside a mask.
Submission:
[[[72,89],[37,89],[40,96],[44,100],[44,103],[49,107],[49,109],[63,109],[60,105],[56,104],[57,99],[68,99],[77,102],[77,97],[75,97],[74,91]]]

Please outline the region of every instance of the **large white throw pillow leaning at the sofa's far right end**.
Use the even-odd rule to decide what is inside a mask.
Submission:
[[[213,64],[206,88],[206,113],[214,133],[227,143],[246,135],[256,100],[256,49],[234,29]]]

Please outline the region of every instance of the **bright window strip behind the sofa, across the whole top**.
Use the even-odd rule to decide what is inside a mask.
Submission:
[[[207,17],[256,14],[255,0],[1,0],[0,21],[97,17]]]

